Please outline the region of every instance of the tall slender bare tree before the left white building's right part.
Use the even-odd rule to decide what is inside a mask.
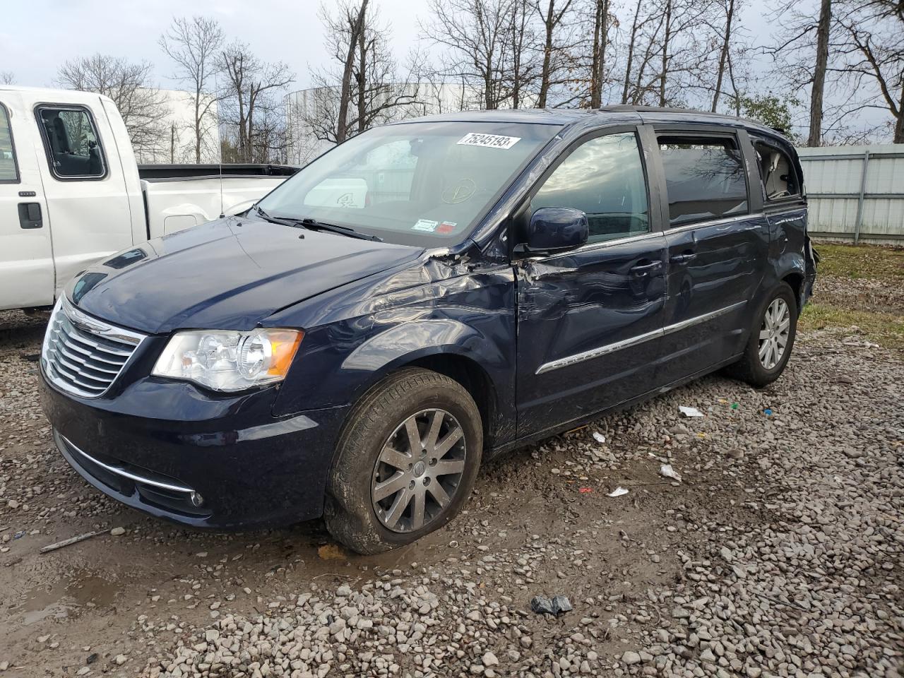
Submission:
[[[189,84],[193,93],[194,160],[201,162],[202,147],[211,125],[209,114],[217,103],[211,92],[216,89],[218,55],[223,42],[220,24],[203,16],[174,17],[169,29],[160,36],[160,48],[176,64],[176,80]]]

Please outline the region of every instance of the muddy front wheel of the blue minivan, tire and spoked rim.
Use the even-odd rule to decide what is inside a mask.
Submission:
[[[326,529],[364,554],[438,530],[471,494],[483,445],[480,411],[461,384],[419,368],[391,374],[344,425],[327,479]]]

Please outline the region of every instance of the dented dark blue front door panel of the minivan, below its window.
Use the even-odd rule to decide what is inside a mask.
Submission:
[[[662,234],[525,260],[517,270],[519,436],[654,388]]]

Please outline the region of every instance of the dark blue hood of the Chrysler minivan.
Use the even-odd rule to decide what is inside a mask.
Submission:
[[[250,330],[280,308],[422,251],[231,217],[120,252],[72,280],[67,296],[91,315],[148,334]]]

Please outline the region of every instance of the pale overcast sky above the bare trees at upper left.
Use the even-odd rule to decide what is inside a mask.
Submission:
[[[63,61],[101,52],[151,61],[158,84],[177,89],[157,40],[174,15],[184,14],[215,17],[227,40],[248,42],[267,61],[286,61],[296,72],[297,89],[310,83],[308,65],[326,59],[319,2],[313,0],[50,0],[40,18],[33,2],[5,0],[4,5],[0,71],[13,71],[18,85],[52,86]],[[391,22],[392,42],[400,53],[407,52],[418,40],[418,15],[427,13],[427,0],[377,5]]]

